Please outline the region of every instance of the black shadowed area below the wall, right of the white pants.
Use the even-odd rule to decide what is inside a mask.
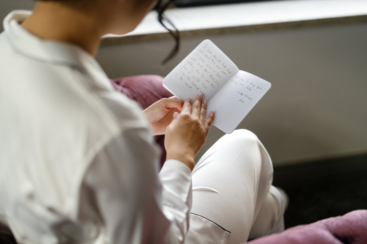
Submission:
[[[286,228],[367,209],[367,153],[274,168],[289,196]]]

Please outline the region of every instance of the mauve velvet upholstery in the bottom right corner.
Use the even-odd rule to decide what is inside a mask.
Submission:
[[[355,210],[281,233],[261,237],[248,244],[367,244],[367,210]]]

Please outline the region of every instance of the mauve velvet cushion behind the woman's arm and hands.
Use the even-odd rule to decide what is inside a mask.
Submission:
[[[163,87],[163,77],[160,75],[136,75],[110,80],[117,91],[128,98],[137,101],[143,109],[164,97],[172,94]],[[166,161],[164,135],[155,136],[156,142],[162,148],[161,166]]]

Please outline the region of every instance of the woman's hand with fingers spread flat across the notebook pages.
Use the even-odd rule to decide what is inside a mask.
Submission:
[[[213,122],[215,111],[211,111],[205,120],[207,102],[202,101],[203,94],[196,96],[193,105],[190,100],[183,104],[181,113],[175,112],[174,118],[166,128],[164,147],[168,159],[177,159],[192,170],[194,158],[203,146]]]

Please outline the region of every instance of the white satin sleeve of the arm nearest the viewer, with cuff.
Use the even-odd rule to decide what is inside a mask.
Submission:
[[[183,243],[191,208],[191,171],[169,160],[160,174],[146,128],[112,138],[87,170],[80,218],[98,222],[107,243]]]

